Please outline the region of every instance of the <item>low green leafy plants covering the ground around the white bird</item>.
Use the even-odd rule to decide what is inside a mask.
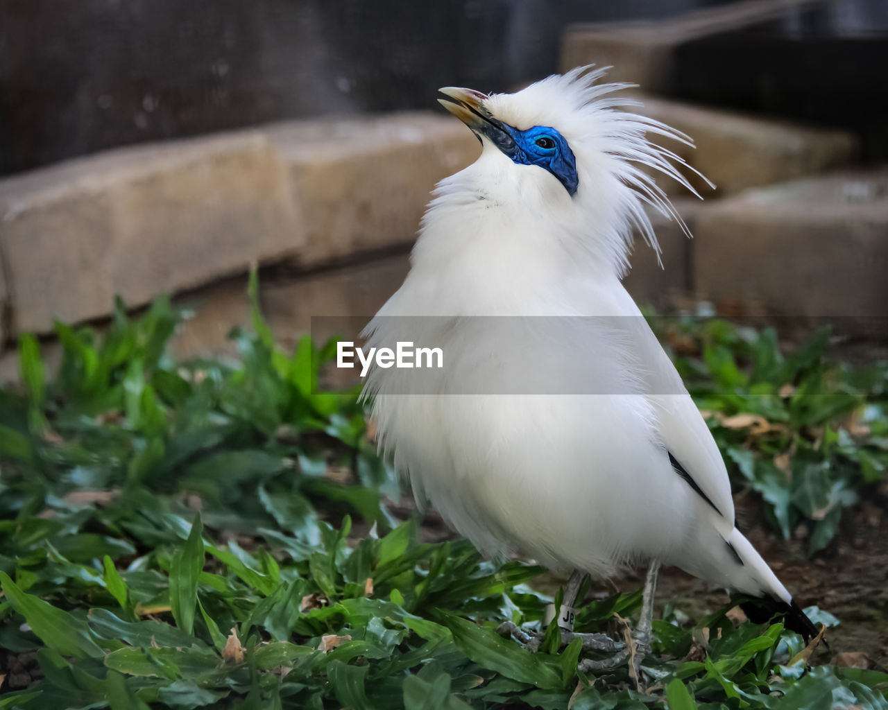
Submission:
[[[331,347],[282,351],[256,288],[236,362],[171,359],[163,298],[118,304],[101,338],[59,323],[52,377],[21,338],[23,385],[0,390],[0,708],[888,708],[888,675],[807,667],[799,636],[730,604],[667,604],[646,691],[625,668],[578,676],[554,635],[536,654],[498,635],[557,603],[542,569],[400,520],[356,391],[313,388]],[[784,355],[770,330],[655,327],[735,483],[829,545],[884,480],[888,368],[830,363],[825,331]],[[639,604],[596,598],[577,628],[619,633]]]

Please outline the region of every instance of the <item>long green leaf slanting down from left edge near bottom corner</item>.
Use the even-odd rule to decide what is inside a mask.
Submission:
[[[0,572],[0,586],[12,608],[25,617],[28,626],[49,648],[78,659],[105,655],[93,640],[90,627],[81,619],[21,591],[5,572]]]

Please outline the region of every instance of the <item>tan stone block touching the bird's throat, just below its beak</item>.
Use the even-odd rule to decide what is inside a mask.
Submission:
[[[432,187],[480,154],[448,115],[393,114],[287,123],[266,135],[289,170],[302,218],[301,267],[416,239]]]

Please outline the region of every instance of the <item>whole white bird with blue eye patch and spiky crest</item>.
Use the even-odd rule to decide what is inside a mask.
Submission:
[[[659,251],[646,203],[684,227],[646,169],[692,189],[647,137],[690,139],[619,108],[633,103],[613,96],[625,84],[603,74],[440,90],[482,152],[437,186],[410,272],[365,331],[445,360],[422,375],[372,367],[380,445],[482,551],[575,571],[568,610],[584,573],[648,563],[643,647],[659,564],[770,598],[811,633],[735,527],[718,446],[621,283],[633,231]]]

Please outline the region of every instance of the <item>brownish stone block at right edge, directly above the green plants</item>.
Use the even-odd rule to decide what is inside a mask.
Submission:
[[[702,298],[750,315],[852,323],[886,314],[888,170],[749,190],[701,210],[694,233]]]

